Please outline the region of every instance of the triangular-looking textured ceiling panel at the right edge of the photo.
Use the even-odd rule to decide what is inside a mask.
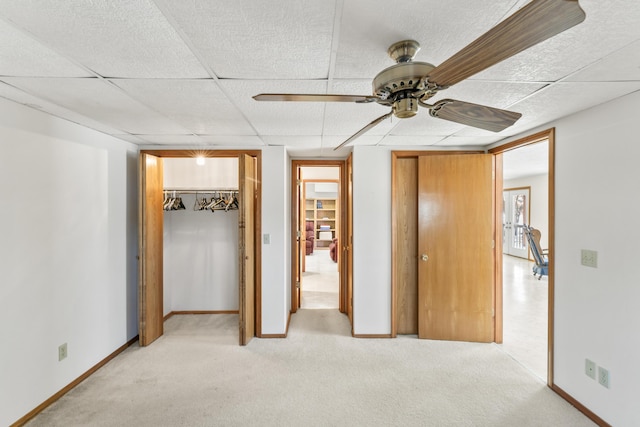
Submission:
[[[640,80],[640,40],[602,58],[566,81]]]

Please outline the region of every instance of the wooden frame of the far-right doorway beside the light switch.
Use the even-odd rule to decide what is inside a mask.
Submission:
[[[547,287],[548,287],[548,309],[547,309],[547,385],[551,388],[554,387],[553,382],[553,354],[554,354],[554,295],[555,295],[555,128],[546,129],[535,134],[526,136],[524,138],[517,139],[515,141],[511,141],[504,145],[500,145],[498,147],[494,147],[489,151],[490,154],[493,154],[496,158],[496,191],[502,192],[502,154],[515,150],[516,148],[524,147],[530,144],[536,144],[542,141],[548,142],[548,164],[549,164],[549,195],[548,195],[548,210],[549,210],[549,230],[548,230],[548,246],[549,246],[549,275],[547,277]],[[499,179],[498,179],[499,174]],[[498,200],[498,203],[502,203],[502,198]],[[502,206],[497,206],[496,208],[500,208],[499,212],[502,212]],[[496,241],[496,247],[500,246],[500,251],[497,253],[502,253],[502,241],[501,239]],[[502,257],[496,257],[496,291],[499,292],[500,298],[496,298],[496,324],[499,325],[499,329],[496,328],[496,338],[498,337],[502,342]]]

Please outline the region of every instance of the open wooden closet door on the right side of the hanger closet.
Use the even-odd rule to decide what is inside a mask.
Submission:
[[[256,161],[246,154],[239,156],[238,211],[239,238],[239,329],[240,345],[255,336],[255,199],[257,189]]]

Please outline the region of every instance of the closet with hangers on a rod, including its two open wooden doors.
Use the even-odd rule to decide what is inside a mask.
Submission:
[[[233,314],[246,345],[260,336],[260,152],[140,156],[140,344],[174,314]]]

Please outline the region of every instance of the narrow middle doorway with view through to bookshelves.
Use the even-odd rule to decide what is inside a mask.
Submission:
[[[298,309],[351,312],[348,162],[293,161],[292,313]]]

